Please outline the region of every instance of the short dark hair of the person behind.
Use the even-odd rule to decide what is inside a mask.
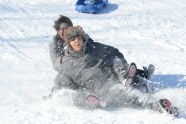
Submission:
[[[59,27],[62,23],[67,23],[69,26],[73,26],[72,21],[68,17],[60,15],[60,17],[54,21],[54,28],[56,31],[59,31]]]

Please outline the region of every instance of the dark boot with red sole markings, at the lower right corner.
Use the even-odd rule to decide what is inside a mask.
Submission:
[[[166,112],[168,114],[173,115],[174,117],[178,116],[178,111],[176,107],[173,107],[171,102],[168,99],[160,99],[160,112]]]

